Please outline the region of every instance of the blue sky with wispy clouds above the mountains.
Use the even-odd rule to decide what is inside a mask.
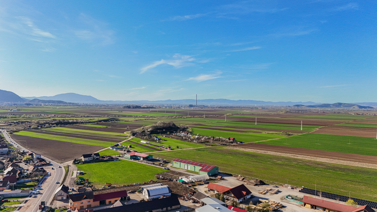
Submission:
[[[0,0],[0,89],[376,102],[377,2]]]

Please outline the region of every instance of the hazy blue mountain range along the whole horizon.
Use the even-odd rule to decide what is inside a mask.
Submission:
[[[92,103],[92,104],[174,104],[174,105],[195,105],[195,99],[182,100],[135,100],[135,101],[113,101],[113,100],[99,100],[92,96],[81,95],[75,93],[58,94],[55,96],[43,97],[20,97],[17,94],[0,90],[0,102],[11,103],[52,103],[52,104],[72,104],[72,103]],[[257,101],[257,100],[228,100],[228,99],[202,99],[198,100],[198,105],[218,105],[218,106],[296,106],[309,108],[372,108],[377,106],[377,103],[334,103],[324,104],[313,101],[307,102],[292,102],[292,101]],[[369,106],[369,107],[364,107]]]

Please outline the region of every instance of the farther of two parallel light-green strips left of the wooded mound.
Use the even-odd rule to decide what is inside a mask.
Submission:
[[[108,138],[119,138],[119,139],[126,139],[127,135],[120,132],[102,132],[102,131],[93,131],[93,130],[84,130],[84,129],[74,129],[74,128],[46,128],[41,129],[43,131],[51,131],[51,132],[62,132],[62,133],[71,133],[77,135],[90,135],[90,136],[98,136],[98,137],[108,137]]]

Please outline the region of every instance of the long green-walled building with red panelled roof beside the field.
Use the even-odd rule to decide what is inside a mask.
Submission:
[[[173,167],[199,172],[199,175],[207,174],[208,176],[211,176],[219,173],[219,167],[217,166],[211,166],[178,158],[173,160]]]

